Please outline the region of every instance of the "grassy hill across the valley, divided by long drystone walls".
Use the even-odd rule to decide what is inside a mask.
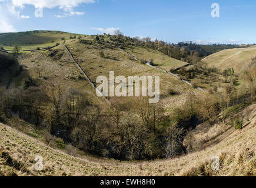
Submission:
[[[83,41],[79,42],[78,37],[77,39],[69,39],[70,36],[82,36],[82,40],[84,40],[85,43]],[[98,44],[94,42],[95,36],[77,35],[59,31],[31,31],[0,34],[1,43],[6,43],[8,41],[11,42],[13,46],[21,46],[22,50],[26,50],[26,48],[36,48],[37,46],[55,45],[55,43],[52,44],[52,40],[63,43],[64,41],[62,41],[61,38],[66,39],[65,45],[69,48],[72,55],[74,55],[75,60],[79,63],[81,68],[84,69],[89,78],[96,85],[98,76],[104,75],[109,78],[109,71],[114,71],[115,76],[123,75],[127,78],[128,76],[135,75],[160,76],[161,103],[167,112],[171,112],[171,109],[183,105],[187,93],[190,90],[199,92],[174,76],[134,61],[134,59],[131,59],[126,53],[113,45],[108,35],[102,35],[99,41],[100,43]],[[31,42],[31,44],[29,44],[28,41]],[[42,41],[43,43],[38,41]],[[4,46],[4,49],[13,49],[13,47]],[[52,51],[56,52],[52,57],[49,56],[48,51],[26,51],[20,53],[18,55],[18,61],[24,68],[24,71],[16,76],[16,78],[12,78],[10,88],[21,88],[25,80],[32,78],[37,80],[36,82],[43,88],[52,82],[65,85],[67,88],[71,86],[74,88],[83,88],[89,93],[88,99],[92,101],[96,99],[94,103],[101,103],[101,100],[98,100],[95,91],[89,85],[88,80],[85,80],[79,69],[72,63],[65,48],[59,45],[52,48]],[[99,55],[99,52],[101,51],[104,53],[105,57]],[[148,50],[141,46],[129,46],[128,48],[125,48],[125,51],[133,53],[133,55],[137,56],[139,59],[145,59],[146,61],[152,60],[157,67],[167,71],[171,68],[179,68],[180,66],[187,64],[178,61],[177,59],[170,58],[161,52],[152,49]],[[40,76],[38,75],[38,71],[41,73]],[[9,76],[9,74],[6,76]],[[8,79],[9,78],[6,77],[5,82],[1,82],[3,87],[6,85],[6,80]],[[179,93],[179,95],[169,96],[168,90],[171,88],[175,90],[176,93]]]

